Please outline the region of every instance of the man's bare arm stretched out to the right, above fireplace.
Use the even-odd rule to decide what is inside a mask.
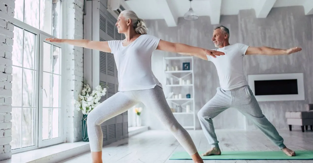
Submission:
[[[301,51],[302,49],[299,47],[294,47],[290,49],[276,49],[271,47],[251,47],[249,46],[246,55],[253,55],[253,54],[259,54],[259,55],[289,55],[291,53],[295,53],[298,51]]]

